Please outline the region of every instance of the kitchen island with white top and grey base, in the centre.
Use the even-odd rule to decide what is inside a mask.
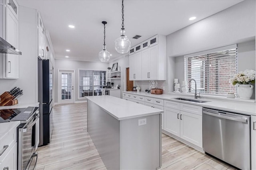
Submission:
[[[113,96],[88,96],[87,131],[109,170],[161,166],[162,110]]]

